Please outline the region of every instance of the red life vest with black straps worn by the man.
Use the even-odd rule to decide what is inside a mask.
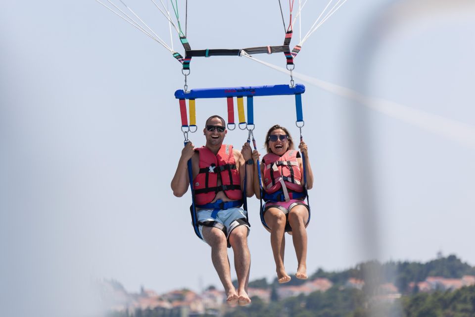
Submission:
[[[193,179],[196,205],[211,203],[220,191],[231,200],[242,199],[239,171],[232,145],[221,145],[215,155],[207,147],[196,149],[199,153],[199,172]],[[218,173],[221,185],[218,186]]]

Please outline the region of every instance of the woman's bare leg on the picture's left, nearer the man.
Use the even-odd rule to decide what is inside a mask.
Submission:
[[[271,229],[271,247],[276,262],[276,272],[279,283],[286,283],[290,276],[285,272],[284,250],[285,250],[285,223],[287,221],[284,211],[271,207],[264,213],[264,220]]]

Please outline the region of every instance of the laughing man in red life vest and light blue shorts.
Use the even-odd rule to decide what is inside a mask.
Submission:
[[[228,131],[224,119],[213,115],[206,120],[203,134],[206,145],[195,149],[189,142],[182,150],[172,179],[173,195],[182,197],[190,184],[187,162],[191,159],[198,229],[204,242],[211,246],[211,260],[223,283],[229,304],[250,304],[247,295],[250,254],[247,247],[249,223],[242,205],[242,188],[247,169],[245,193],[254,195],[252,151],[244,143],[241,152],[223,145]],[[228,246],[234,251],[238,289],[231,281]]]

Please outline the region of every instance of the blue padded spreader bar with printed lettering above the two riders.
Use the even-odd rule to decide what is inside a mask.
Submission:
[[[200,99],[200,98],[226,98],[244,96],[279,96],[303,94],[305,86],[297,84],[295,87],[289,85],[268,85],[268,86],[247,86],[247,87],[222,87],[191,89],[185,93],[182,89],[175,92],[177,99]]]

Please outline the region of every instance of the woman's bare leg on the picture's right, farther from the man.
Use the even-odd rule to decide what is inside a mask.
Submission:
[[[308,220],[308,209],[305,206],[297,205],[288,213],[288,223],[292,227],[292,240],[297,255],[297,273],[295,276],[300,279],[307,279],[307,229],[305,223]]]

